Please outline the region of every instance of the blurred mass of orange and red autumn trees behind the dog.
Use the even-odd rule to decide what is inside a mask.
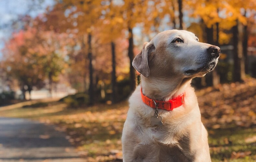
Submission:
[[[6,40],[1,70],[13,81],[9,86],[24,93],[52,91],[62,78],[87,93],[90,104],[116,102],[135,87],[131,63],[143,42],[166,29],[187,29],[200,41],[234,47],[224,51],[222,67],[195,81],[197,87],[242,81],[245,71],[254,74],[247,47],[253,46],[255,7],[252,0],[56,1],[43,15],[21,19],[21,29]]]

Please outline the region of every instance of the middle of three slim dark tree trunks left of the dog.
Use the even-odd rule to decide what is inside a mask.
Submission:
[[[115,61],[115,43],[111,41],[111,53],[112,53],[112,103],[116,102],[116,61]]]

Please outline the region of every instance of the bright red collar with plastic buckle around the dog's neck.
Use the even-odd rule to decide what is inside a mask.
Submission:
[[[180,107],[184,103],[184,97],[185,97],[185,93],[182,93],[181,95],[177,96],[176,98],[170,99],[169,101],[155,100],[155,102],[157,104],[158,109],[173,110],[174,108]],[[146,105],[155,109],[154,99],[146,97],[142,93],[142,88],[141,88],[141,98]]]

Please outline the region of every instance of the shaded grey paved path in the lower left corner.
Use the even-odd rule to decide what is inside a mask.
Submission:
[[[84,162],[52,125],[0,117],[0,162]]]

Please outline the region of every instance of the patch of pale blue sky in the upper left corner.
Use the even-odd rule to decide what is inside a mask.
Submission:
[[[0,0],[0,59],[4,40],[8,40],[12,33],[11,22],[22,15],[36,17],[44,13],[47,6],[53,5],[54,0]]]

